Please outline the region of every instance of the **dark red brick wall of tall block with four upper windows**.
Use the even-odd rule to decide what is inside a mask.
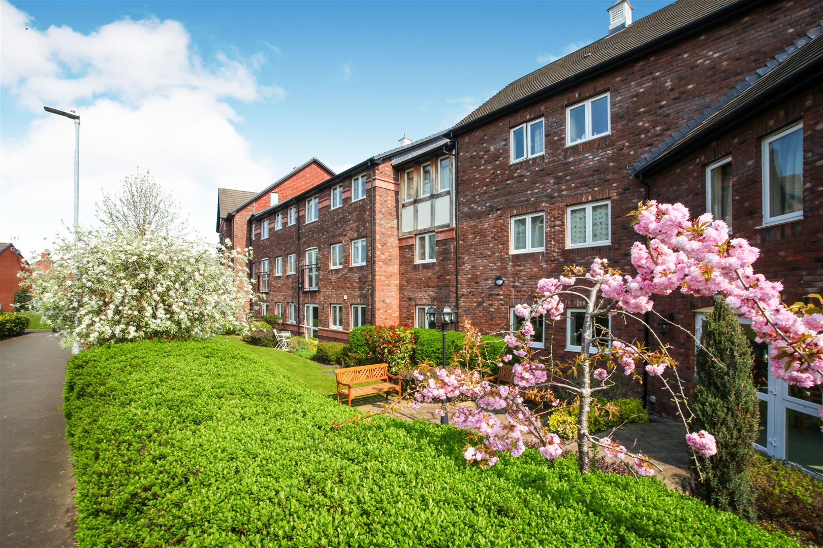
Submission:
[[[636,234],[624,215],[644,199],[644,187],[627,167],[765,66],[821,16],[820,2],[774,2],[458,136],[461,318],[485,332],[505,329],[509,306],[531,302],[537,280],[559,274],[563,265],[588,265],[601,256],[625,269]],[[607,91],[611,134],[566,147],[566,108]],[[509,164],[510,128],[541,116],[546,153]],[[670,190],[678,196],[700,193],[681,185]],[[567,249],[566,205],[600,199],[611,199],[611,245]],[[537,211],[546,214],[546,251],[510,255],[510,217]],[[505,279],[500,287],[497,275]],[[554,334],[556,356],[564,356],[565,322]]]

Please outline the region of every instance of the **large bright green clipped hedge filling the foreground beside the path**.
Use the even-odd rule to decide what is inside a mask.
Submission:
[[[796,546],[660,486],[528,449],[467,467],[465,432],[374,417],[218,341],[72,357],[79,546]]]

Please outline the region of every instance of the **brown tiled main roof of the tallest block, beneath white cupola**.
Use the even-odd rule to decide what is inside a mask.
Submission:
[[[486,103],[463,118],[455,131],[475,125],[486,117],[502,114],[537,99],[542,94],[560,90],[597,72],[613,70],[617,62],[648,53],[683,39],[693,28],[717,25],[720,16],[737,9],[750,9],[755,0],[678,0],[667,7],[635,21],[620,32],[597,40],[531,74],[505,86]],[[605,25],[604,25],[605,28]]]

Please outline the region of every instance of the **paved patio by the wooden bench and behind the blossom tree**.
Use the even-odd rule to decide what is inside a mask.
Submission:
[[[397,397],[391,396],[389,403],[396,403]],[[353,407],[362,412],[382,412],[383,404],[387,403],[384,396],[375,395],[358,398],[352,402]],[[458,403],[449,406],[449,416],[458,405],[473,405],[471,402]],[[435,415],[435,410],[439,405],[434,403],[423,403],[421,408],[415,409],[402,403],[398,410],[393,412],[393,417],[402,418],[407,421],[423,420],[439,424],[440,417]],[[502,416],[501,416],[502,418]],[[658,477],[663,480],[663,484],[673,490],[682,490],[682,481],[689,475],[689,456],[686,453],[686,429],[680,422],[652,421],[645,424],[628,424],[617,430],[613,436],[615,440],[621,440],[627,449],[635,453],[646,454],[649,460],[657,464],[662,472]],[[567,450],[574,451],[576,444],[570,444]]]

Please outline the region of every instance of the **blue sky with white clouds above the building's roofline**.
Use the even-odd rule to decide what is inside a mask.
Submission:
[[[210,237],[216,187],[256,190],[311,156],[346,168],[393,148],[404,132],[416,139],[449,127],[510,81],[606,35],[611,3],[3,2],[3,60],[21,55],[26,66],[4,63],[2,152],[36,161],[32,147],[51,143],[51,136],[63,158],[63,140],[73,146],[71,127],[50,119],[41,104],[85,111],[84,219],[100,187],[114,189],[140,166],[180,194],[184,212]],[[667,3],[635,0],[635,21]],[[26,45],[32,36],[34,45]],[[146,48],[160,53],[147,53],[156,61],[141,67]],[[186,61],[164,67],[165,58],[181,51]],[[164,76],[152,74],[152,65]],[[207,113],[199,130],[198,108]],[[119,116],[122,122],[110,123]],[[105,126],[105,136],[95,140],[94,126]],[[188,140],[184,127],[201,135]],[[120,131],[128,133],[133,156],[119,150],[119,162],[110,162],[105,147]],[[187,148],[203,139],[202,131],[216,141]],[[135,145],[137,135],[156,140],[158,150]],[[182,158],[174,163],[161,147],[166,154],[179,147]],[[213,157],[224,148],[234,150],[225,160],[240,166],[235,175],[231,165],[213,166],[205,177],[187,175],[198,149]],[[64,163],[53,166],[51,177],[60,177]],[[0,172],[2,192],[16,189],[16,195],[4,197],[25,196],[21,189],[35,174],[8,171]],[[0,224],[0,241],[26,238],[24,251],[39,245],[26,232]]]

